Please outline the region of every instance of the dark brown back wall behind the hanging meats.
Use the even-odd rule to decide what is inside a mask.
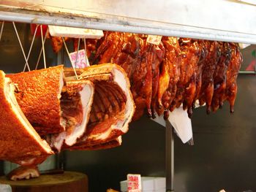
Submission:
[[[29,25],[17,26],[27,53],[31,42]],[[30,66],[37,61],[40,43],[37,38]],[[252,61],[251,52],[255,48],[254,45],[242,51],[244,65]],[[46,42],[45,50],[48,66],[55,65],[57,56],[53,53],[50,42]],[[23,70],[25,60],[11,23],[4,27],[0,57],[0,69],[4,72]],[[40,67],[42,66],[41,60]],[[227,103],[222,110],[211,115],[206,115],[205,107],[194,110],[192,127],[195,145],[184,145],[175,137],[174,181],[177,192],[219,191],[222,188],[226,191],[256,191],[254,75],[239,75],[235,110],[234,114],[230,114]],[[164,177],[165,128],[143,117],[130,124],[121,147],[99,151],[67,151],[64,159],[65,170],[84,172],[89,176],[90,191],[119,189],[119,181],[126,180],[128,173]],[[3,173],[2,162],[0,169]]]

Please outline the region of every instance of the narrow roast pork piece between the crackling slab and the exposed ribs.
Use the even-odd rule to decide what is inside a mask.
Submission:
[[[94,84],[89,80],[67,82],[61,93],[62,118],[66,120],[66,131],[48,136],[50,146],[60,151],[62,145],[72,146],[83,136],[89,121],[94,98]]]

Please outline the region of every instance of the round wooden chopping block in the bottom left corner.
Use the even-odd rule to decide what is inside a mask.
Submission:
[[[18,181],[2,176],[0,183],[11,185],[12,192],[88,192],[88,177],[79,172],[45,174],[39,178]]]

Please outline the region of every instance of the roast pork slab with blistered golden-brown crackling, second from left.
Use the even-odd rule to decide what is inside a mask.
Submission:
[[[18,87],[15,96],[26,118],[40,135],[65,130],[61,117],[63,66],[8,74]]]

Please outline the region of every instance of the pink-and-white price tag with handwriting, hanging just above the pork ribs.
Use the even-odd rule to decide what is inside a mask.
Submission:
[[[79,50],[73,53],[69,53],[69,58],[75,68],[85,68],[86,66],[90,66],[85,50]]]

